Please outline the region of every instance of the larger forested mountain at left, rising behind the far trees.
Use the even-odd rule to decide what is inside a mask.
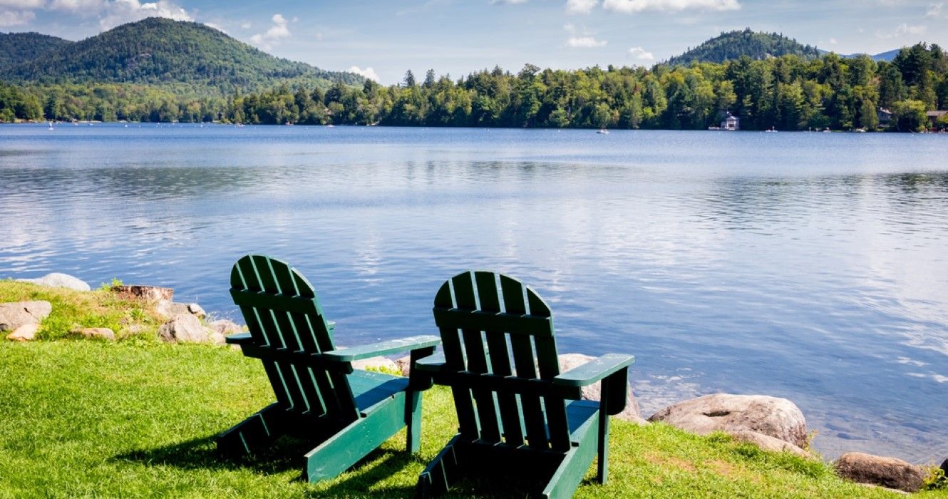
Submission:
[[[0,79],[18,83],[167,83],[203,94],[253,90],[287,80],[322,86],[364,82],[353,73],[274,57],[202,24],[157,17],[80,42],[65,42],[35,55],[18,65],[0,66]]]

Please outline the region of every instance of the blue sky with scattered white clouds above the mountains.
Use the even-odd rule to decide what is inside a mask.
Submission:
[[[494,65],[652,65],[745,27],[840,53],[948,46],[948,0],[0,0],[0,31],[80,40],[155,15],[381,83],[406,69],[456,78]]]

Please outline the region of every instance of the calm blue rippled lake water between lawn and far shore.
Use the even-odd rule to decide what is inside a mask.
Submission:
[[[438,286],[538,290],[560,352],[632,353],[645,416],[789,397],[828,457],[948,457],[948,136],[0,125],[0,277],[172,286],[239,318],[246,252],[343,344],[436,333]]]

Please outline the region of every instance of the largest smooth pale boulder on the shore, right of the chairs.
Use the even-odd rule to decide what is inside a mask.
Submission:
[[[807,420],[786,398],[716,394],[670,405],[648,418],[685,432],[757,432],[797,447],[807,445]]]

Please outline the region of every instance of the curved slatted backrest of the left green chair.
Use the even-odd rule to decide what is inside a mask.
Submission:
[[[348,362],[319,363],[306,354],[334,350],[316,291],[285,262],[250,254],[230,272],[230,295],[244,314],[252,349],[264,361],[277,402],[309,416],[355,420]]]

